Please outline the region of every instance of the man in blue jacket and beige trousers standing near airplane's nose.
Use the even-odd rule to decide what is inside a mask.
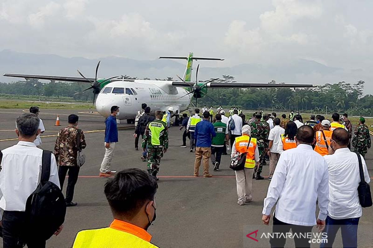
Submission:
[[[100,177],[110,177],[115,173],[110,170],[110,166],[114,155],[115,144],[118,142],[116,116],[119,114],[119,107],[112,106],[110,112],[111,115],[105,121],[105,156],[101,163]]]

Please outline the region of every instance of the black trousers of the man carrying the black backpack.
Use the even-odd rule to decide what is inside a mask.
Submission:
[[[25,212],[4,211],[2,222],[3,248],[22,248],[24,243],[28,248],[46,247],[46,241],[38,240],[38,237],[32,237],[32,240],[26,242],[22,240],[21,232],[25,226]]]

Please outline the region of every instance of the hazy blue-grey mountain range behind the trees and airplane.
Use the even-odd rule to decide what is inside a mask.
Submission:
[[[121,57],[87,59],[82,57],[65,58],[53,54],[29,54],[10,50],[0,52],[0,73],[43,74],[78,76],[77,69],[87,77],[94,77],[95,66],[101,60],[99,77],[129,75],[138,78],[166,78],[176,74],[182,76],[185,62],[167,59],[135,60]],[[224,63],[224,62],[222,62]],[[194,65],[196,65],[195,63]],[[319,62],[299,59],[295,62],[279,62],[273,65],[240,64],[233,67],[204,67],[201,62],[201,80],[221,75],[232,75],[240,82],[266,83],[271,80],[286,83],[335,83],[338,81],[356,82],[365,80],[366,93],[373,93],[369,86],[373,76],[361,69],[344,70],[328,67]],[[194,77],[194,76],[193,76]],[[1,82],[16,81],[15,78],[0,77]]]

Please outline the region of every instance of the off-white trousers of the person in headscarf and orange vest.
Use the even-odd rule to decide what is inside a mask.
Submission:
[[[251,196],[251,190],[253,189],[254,168],[248,169],[244,168],[240,171],[235,171],[236,183],[237,183],[237,196],[239,201],[251,201],[253,196]]]

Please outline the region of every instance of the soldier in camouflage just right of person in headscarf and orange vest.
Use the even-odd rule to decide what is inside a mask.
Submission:
[[[264,177],[262,177],[260,173],[263,169],[265,150],[268,147],[267,138],[269,134],[269,125],[265,121],[260,121],[261,119],[260,113],[257,113],[255,118],[256,120],[250,123],[250,127],[251,127],[251,136],[257,139],[260,164],[258,168],[255,168],[253,178],[256,178],[256,180],[263,180]],[[255,172],[256,172],[256,177],[255,177]]]

